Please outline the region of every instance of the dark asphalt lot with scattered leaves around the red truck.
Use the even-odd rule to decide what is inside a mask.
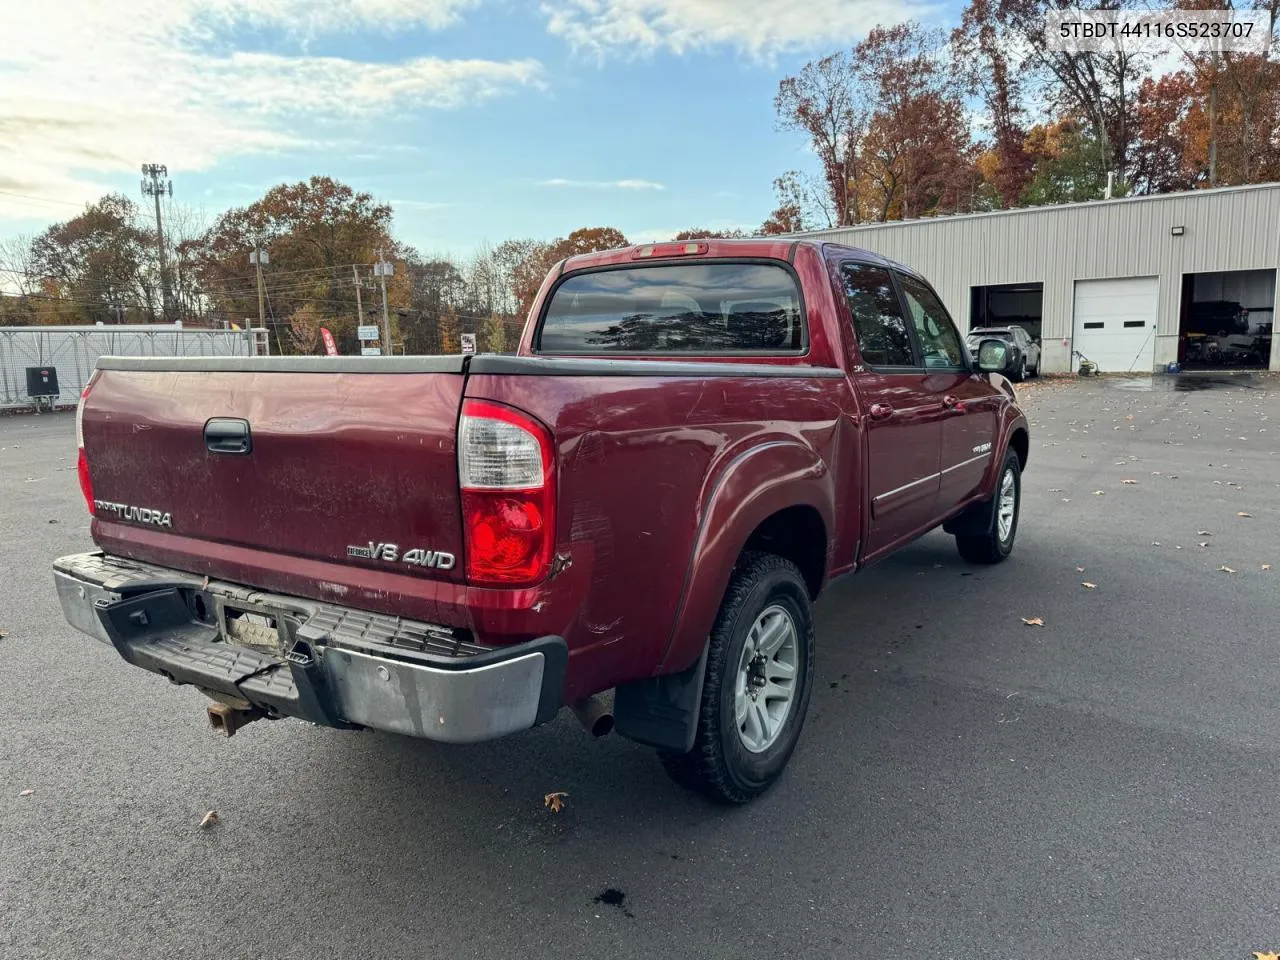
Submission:
[[[567,712],[218,739],[63,622],[73,419],[0,417],[0,956],[1280,950],[1280,380],[1175,381],[1206,384],[1027,388],[1014,556],[934,532],[832,588],[800,748],[742,809]]]

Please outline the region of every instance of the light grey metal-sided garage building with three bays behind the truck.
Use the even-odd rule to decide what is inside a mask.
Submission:
[[[1042,370],[1280,370],[1280,184],[1222,187],[817,234],[928,276],[961,329],[1018,324]]]

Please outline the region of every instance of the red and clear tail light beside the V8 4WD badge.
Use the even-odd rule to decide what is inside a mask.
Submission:
[[[556,547],[547,428],[512,407],[466,401],[458,424],[458,481],[467,580],[495,586],[543,580]]]

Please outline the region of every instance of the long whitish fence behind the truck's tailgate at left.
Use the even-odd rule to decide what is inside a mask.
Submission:
[[[0,326],[0,408],[74,404],[93,365],[114,357],[252,357],[269,352],[266,330],[195,330],[170,324]],[[56,398],[27,393],[29,367],[54,369]]]

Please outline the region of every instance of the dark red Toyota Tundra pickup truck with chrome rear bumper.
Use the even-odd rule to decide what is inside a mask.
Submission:
[[[58,593],[225,733],[479,741],[570,705],[745,803],[800,735],[832,577],[938,525],[1009,556],[1009,360],[915,271],[809,239],[573,257],[515,356],[105,357],[100,550]]]

